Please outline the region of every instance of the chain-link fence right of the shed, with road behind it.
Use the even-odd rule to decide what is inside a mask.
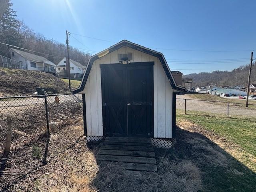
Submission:
[[[176,111],[178,114],[198,114],[216,117],[252,118],[256,116],[255,104],[236,102],[220,102],[209,100],[176,99]]]

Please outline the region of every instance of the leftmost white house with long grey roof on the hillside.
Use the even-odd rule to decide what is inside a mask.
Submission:
[[[38,70],[56,74],[56,65],[42,56],[38,56],[14,48],[10,48],[9,53],[11,59],[22,63],[22,69],[24,70]]]

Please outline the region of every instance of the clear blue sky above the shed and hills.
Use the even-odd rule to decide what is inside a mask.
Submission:
[[[171,70],[184,74],[249,64],[250,52],[256,48],[255,0],[12,0],[12,3],[18,18],[46,38],[64,43],[68,30],[73,33],[70,45],[92,54],[126,39],[162,52]]]

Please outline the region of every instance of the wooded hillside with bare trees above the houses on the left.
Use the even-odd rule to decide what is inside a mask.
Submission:
[[[16,11],[11,8],[12,3],[8,3],[7,9],[3,16],[0,15],[0,42],[26,48],[43,54],[31,52],[47,58],[54,64],[58,64],[63,57],[67,56],[67,48],[65,44],[49,40],[42,34],[34,32],[28,28],[24,22],[16,18]],[[65,32],[63,32],[65,39]],[[10,58],[8,50],[10,46],[0,44],[0,55]],[[89,53],[82,52],[76,48],[70,47],[70,58],[80,62],[86,66],[90,57]]]

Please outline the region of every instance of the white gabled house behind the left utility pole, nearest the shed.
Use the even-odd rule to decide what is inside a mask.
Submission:
[[[56,66],[56,72],[60,76],[67,77],[67,68],[66,68],[66,57],[64,57]],[[86,69],[86,66],[83,66],[77,61],[74,61],[70,59],[70,77],[71,78],[81,78],[84,74],[84,70]]]

